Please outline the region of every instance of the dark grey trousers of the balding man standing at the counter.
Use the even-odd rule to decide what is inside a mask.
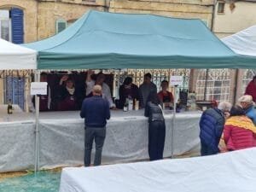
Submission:
[[[85,128],[84,137],[84,166],[90,166],[90,155],[92,149],[92,143],[95,140],[96,153],[94,157],[94,166],[101,165],[102,162],[102,148],[106,137],[106,127]]]

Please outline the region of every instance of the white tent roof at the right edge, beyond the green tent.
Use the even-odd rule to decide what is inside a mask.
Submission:
[[[256,56],[256,26],[251,26],[221,40],[236,54]]]

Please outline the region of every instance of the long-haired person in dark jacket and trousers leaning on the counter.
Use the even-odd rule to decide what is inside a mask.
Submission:
[[[166,123],[156,91],[150,92],[144,115],[148,117],[148,154],[150,160],[163,159]]]

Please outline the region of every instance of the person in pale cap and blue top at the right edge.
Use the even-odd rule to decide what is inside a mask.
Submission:
[[[256,125],[256,108],[253,103],[253,96],[245,95],[238,99],[238,102],[246,113],[247,117],[253,120],[253,124]]]

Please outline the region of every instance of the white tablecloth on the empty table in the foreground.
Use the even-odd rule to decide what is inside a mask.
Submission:
[[[69,167],[60,192],[253,192],[256,148],[180,160]]]

